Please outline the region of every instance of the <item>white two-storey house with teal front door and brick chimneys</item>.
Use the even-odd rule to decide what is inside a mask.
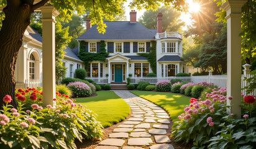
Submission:
[[[101,40],[106,43],[109,53],[106,61],[91,61],[86,69],[88,78],[106,78],[107,83],[126,82],[129,74],[143,78],[152,73],[150,63],[145,56],[138,53],[149,53],[151,41],[156,42],[157,77],[167,78],[177,73],[186,72],[186,64],[182,56],[182,34],[178,32],[162,32],[162,13],[157,15],[157,29],[147,29],[136,21],[135,11],[130,12],[130,21],[105,21],[106,32],[99,34],[97,25],[91,27],[90,19],[86,19],[86,32],[76,40],[80,45],[74,49],[98,53]],[[81,42],[85,48],[81,49]]]

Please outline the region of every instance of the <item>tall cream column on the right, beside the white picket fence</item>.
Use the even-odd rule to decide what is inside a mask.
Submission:
[[[229,0],[223,4],[222,8],[227,12],[227,97],[232,96],[232,100],[227,101],[231,106],[231,111],[241,117],[241,8],[246,1]]]

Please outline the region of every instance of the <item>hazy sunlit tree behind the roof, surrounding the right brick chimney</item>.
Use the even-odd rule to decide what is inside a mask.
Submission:
[[[163,32],[176,32],[184,25],[184,22],[180,19],[181,12],[176,11],[171,6],[158,7],[157,11],[145,11],[143,16],[139,19],[140,24],[148,29],[157,29],[158,12],[162,12],[163,14]]]

